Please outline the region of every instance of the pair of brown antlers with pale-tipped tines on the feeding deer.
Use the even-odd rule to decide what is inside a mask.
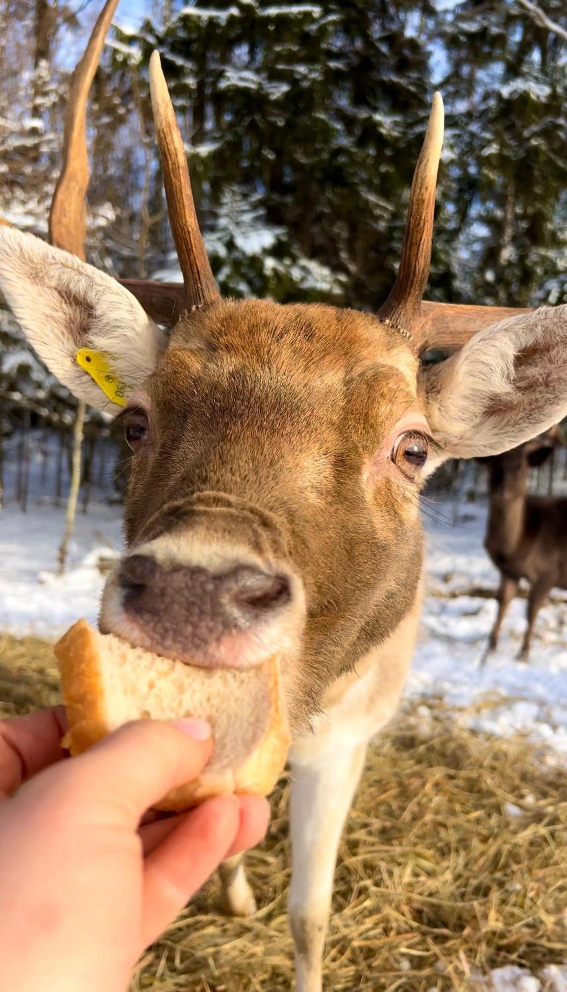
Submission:
[[[85,104],[104,36],[118,4],[108,0],[94,27],[82,61],[73,74],[65,118],[64,165],[57,182],[50,217],[53,244],[83,257],[84,195],[88,162],[84,139]],[[173,239],[184,287],[176,283],[122,279],[122,283],[156,320],[173,323],[185,308],[203,307],[219,299],[195,216],[182,140],[177,128],[160,57],[150,62],[152,103],[164,170]],[[420,350],[455,351],[483,327],[529,308],[471,307],[440,304],[421,297],[427,282],[435,205],[435,183],[443,135],[443,102],[433,98],[429,125],[419,156],[409,201],[401,263],[392,292],[379,314],[392,323],[409,325]],[[0,224],[7,221],[0,217]]]

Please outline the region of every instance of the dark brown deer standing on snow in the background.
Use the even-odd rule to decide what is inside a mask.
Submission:
[[[485,548],[501,572],[498,616],[482,665],[498,645],[520,579],[529,582],[527,626],[517,655],[522,662],[527,661],[535,618],[551,589],[567,589],[567,498],[527,495],[529,469],[542,465],[558,443],[564,438],[555,427],[510,451],[481,459],[489,471]]]

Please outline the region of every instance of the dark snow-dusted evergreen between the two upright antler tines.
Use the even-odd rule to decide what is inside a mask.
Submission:
[[[431,95],[413,26],[430,17],[420,0],[202,0],[144,26],[225,292],[367,307],[387,295]]]

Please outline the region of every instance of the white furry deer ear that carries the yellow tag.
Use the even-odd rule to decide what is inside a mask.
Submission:
[[[11,227],[0,227],[0,290],[59,382],[93,407],[118,409],[78,364],[79,349],[102,352],[128,394],[165,348],[165,334],[115,279]]]

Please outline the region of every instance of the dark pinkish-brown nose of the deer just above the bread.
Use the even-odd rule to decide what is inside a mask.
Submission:
[[[118,584],[141,647],[202,665],[232,665],[235,637],[262,637],[292,598],[283,571],[237,564],[213,572],[197,565],[167,566],[148,555],[124,558]],[[243,667],[241,662],[242,651],[235,652],[235,667]]]

